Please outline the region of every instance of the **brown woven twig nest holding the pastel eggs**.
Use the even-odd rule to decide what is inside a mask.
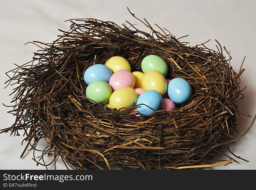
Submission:
[[[71,23],[52,44],[35,42],[40,50],[33,61],[10,76],[9,82],[18,84],[10,111],[16,120],[2,133],[25,131],[26,149],[31,145],[36,150],[40,139],[47,140],[49,146],[36,162],[47,166],[42,158],[52,155],[53,161],[60,156],[74,169],[109,169],[110,164],[125,169],[203,167],[231,142],[243,70],[239,75],[232,70],[230,56],[223,56],[225,48],[190,47],[147,22],[150,33],[128,22],[122,27],[97,19]],[[132,72],[141,71],[142,59],[151,54],[168,64],[167,79],[182,77],[191,84],[189,102],[137,117],[88,101],[83,73],[89,66],[122,56]]]

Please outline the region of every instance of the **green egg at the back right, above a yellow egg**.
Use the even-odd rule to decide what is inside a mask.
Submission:
[[[144,57],[141,62],[141,68],[143,73],[147,73],[150,70],[157,70],[162,73],[163,76],[166,76],[168,73],[168,66],[166,62],[157,55],[148,55]]]

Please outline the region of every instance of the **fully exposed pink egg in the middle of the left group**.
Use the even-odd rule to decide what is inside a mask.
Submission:
[[[133,88],[134,84],[135,77],[129,70],[118,70],[109,79],[109,85],[113,91],[125,86]]]

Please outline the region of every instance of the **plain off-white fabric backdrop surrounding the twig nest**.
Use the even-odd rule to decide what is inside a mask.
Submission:
[[[33,52],[38,47],[33,44],[24,44],[28,41],[52,42],[61,34],[57,29],[68,30],[70,23],[63,22],[71,18],[97,18],[105,21],[114,21],[121,25],[125,20],[136,23],[144,30],[145,26],[134,19],[129,12],[141,19],[146,18],[152,25],[157,23],[167,28],[176,37],[189,35],[183,39],[191,45],[200,44],[208,39],[207,46],[216,49],[217,39],[222,46],[231,52],[231,64],[235,71],[239,71],[243,57],[246,55],[241,76],[245,98],[241,101],[242,107],[254,115],[256,111],[256,82],[255,82],[255,1],[3,1],[0,4],[0,55],[1,55],[1,102],[11,101],[8,95],[13,87],[4,88],[8,77],[4,74],[13,69],[16,64],[30,61]],[[1,105],[0,128],[7,128],[14,122],[14,116],[7,114],[9,108]],[[248,126],[252,118],[239,116],[238,120]],[[230,149],[238,156],[249,160],[240,164],[233,163],[212,169],[256,169],[256,123],[250,131]],[[244,133],[237,127],[240,134]],[[22,135],[22,133],[21,133]],[[0,169],[45,169],[36,166],[31,159],[32,152],[26,152],[23,159],[19,156],[26,143],[21,145],[23,137],[10,137],[10,133],[0,135]],[[44,147],[45,144],[40,145]],[[227,152],[228,155],[230,153]],[[216,157],[216,159],[227,159]],[[49,167],[53,169],[53,167]],[[65,169],[61,160],[57,162],[57,169]]]

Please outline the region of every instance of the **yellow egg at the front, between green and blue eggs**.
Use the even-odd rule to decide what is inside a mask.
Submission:
[[[131,87],[122,87],[112,93],[109,98],[109,104],[112,109],[120,109],[123,107],[131,107],[136,105],[138,96],[136,91]],[[127,108],[123,108],[120,111],[125,111]]]

